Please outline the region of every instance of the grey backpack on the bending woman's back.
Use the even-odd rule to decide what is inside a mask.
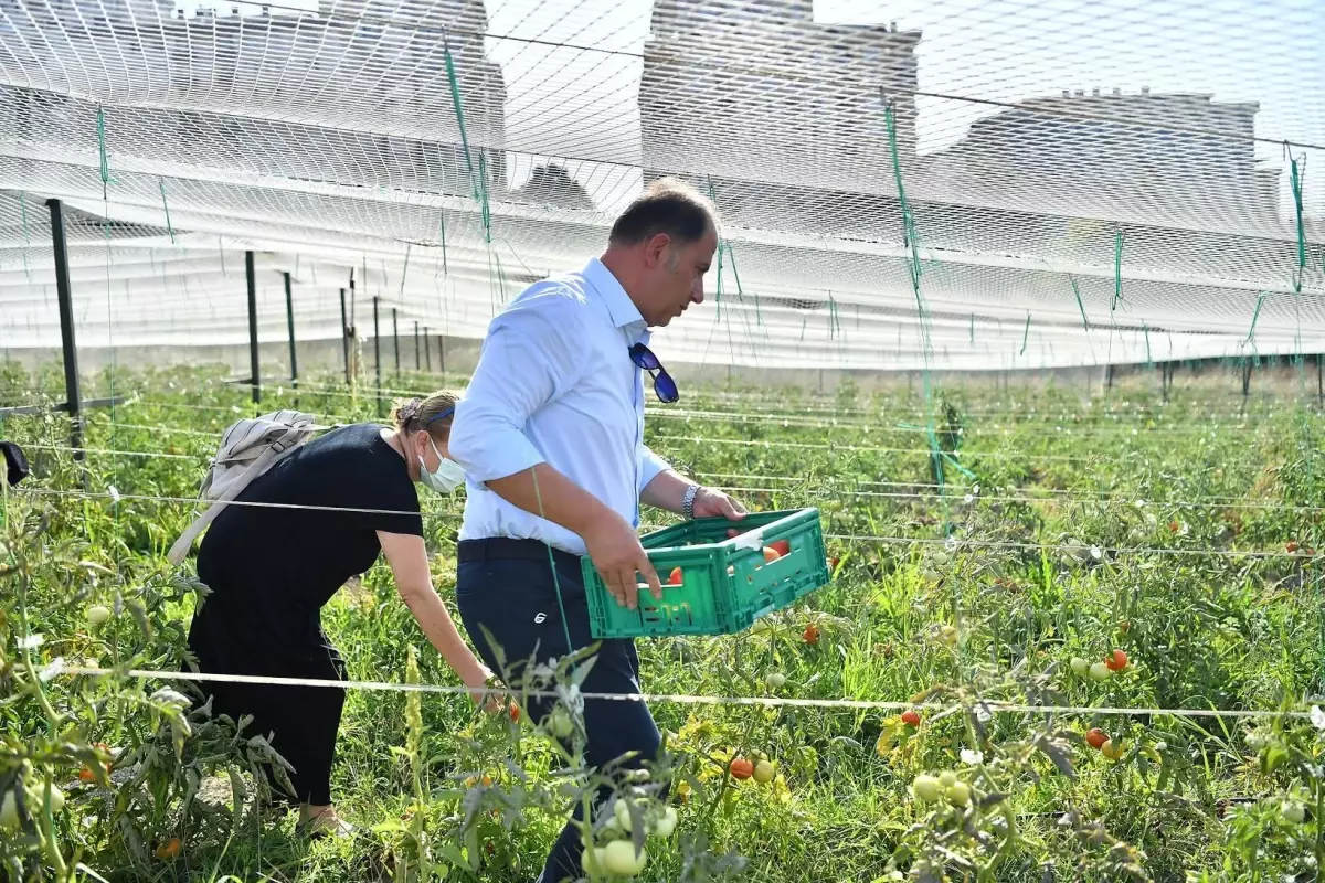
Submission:
[[[175,540],[168,553],[171,564],[184,560],[193,540],[227,503],[319,429],[313,414],[298,410],[277,410],[227,428],[199,491],[199,499],[211,506]]]

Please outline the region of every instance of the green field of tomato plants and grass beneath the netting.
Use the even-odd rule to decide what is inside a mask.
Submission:
[[[323,384],[301,391],[299,408],[375,418],[375,400]],[[97,387],[86,395],[109,392],[109,379]],[[0,404],[26,404],[33,389],[58,389],[54,372],[0,371]],[[564,759],[527,723],[478,714],[462,696],[425,694],[411,711],[404,694],[351,692],[333,788],[359,834],[310,845],[293,818],[258,823],[249,769],[262,747],[236,743],[224,721],[186,728],[156,692],[178,683],[36,676],[56,657],[180,665],[196,586],[189,568],[170,573],[164,551],[220,432],[253,408],[208,369],[122,375],[114,389],[130,401],[89,414],[85,465],[60,450],[58,416],[3,425],[34,475],[7,499],[0,789],[23,776],[68,792],[49,825],[41,812],[29,821],[25,802],[16,838],[0,843],[11,875],[42,867],[57,879],[64,866],[91,879],[82,863],[109,880],[533,879],[564,819]],[[649,841],[639,879],[1313,879],[1325,857],[1325,740],[1309,720],[1275,712],[1306,708],[1325,665],[1321,565],[1305,552],[1325,547],[1325,421],[1305,395],[1244,404],[1214,380],[1179,384],[1169,402],[1157,391],[1143,376],[1096,398],[947,385],[945,446],[975,478],[945,469],[942,495],[912,428],[925,402],[904,389],[710,389],[652,412],[648,441],[680,469],[738,488],[751,507],[819,507],[840,564],[829,585],[767,617],[771,627],[641,641],[645,690],[928,694],[957,711],[925,708],[914,729],[897,710],[657,703],[688,793],[673,797],[677,834]],[[269,389],[264,409],[293,400]],[[420,498],[449,602],[462,500]],[[91,604],[123,612],[94,627]],[[457,683],[380,563],[323,622],[354,679],[401,682],[417,647],[421,682]],[[33,633],[44,642],[24,649]],[[1114,647],[1129,654],[1126,670],[1101,683],[1071,673],[1072,657],[1093,662]],[[771,671],[786,686],[770,691]],[[1271,714],[986,718],[980,699]],[[1085,745],[1090,727],[1125,745],[1121,760]],[[101,760],[87,748],[97,741],[119,753],[117,770],[129,759],[155,765],[142,781],[78,784],[78,769]],[[963,763],[963,751],[983,760]],[[737,753],[774,760],[779,777],[731,780]],[[945,769],[974,788],[970,809],[912,794],[917,774]],[[465,785],[484,772],[492,786]],[[189,802],[199,785],[212,796],[201,809]],[[1285,801],[1305,808],[1304,821],[1285,815]],[[179,855],[156,855],[172,837]]]

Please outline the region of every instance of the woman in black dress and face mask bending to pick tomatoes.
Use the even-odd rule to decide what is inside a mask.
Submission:
[[[432,588],[415,491],[421,482],[449,494],[464,481],[448,458],[456,401],[439,392],[398,404],[391,428],[334,429],[277,461],[240,494],[240,504],[225,507],[197,553],[197,576],[211,589],[188,635],[200,671],[344,680],[319,612],[380,552],[432,646],[466,686],[485,686],[492,673],[460,638]],[[337,815],[330,789],[343,690],[200,686],[213,696],[213,715],[236,721],[252,715],[245,735],[268,736],[294,767],[294,793],[285,800],[301,804],[301,829],[352,830]],[[285,790],[276,781],[273,788]]]

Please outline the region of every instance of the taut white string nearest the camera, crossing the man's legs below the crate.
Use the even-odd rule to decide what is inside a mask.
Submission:
[[[492,687],[465,687],[433,683],[392,683],[388,680],[337,680],[330,678],[277,678],[269,675],[236,675],[212,674],[192,671],[156,671],[152,669],[130,669],[119,671],[95,666],[52,666],[54,675],[69,676],[106,676],[121,675],[139,679],[160,680],[191,680],[191,682],[217,682],[217,683],[252,683],[284,687],[331,687],[337,690],[364,690],[386,692],[432,692],[450,695],[484,696],[494,692],[506,692]],[[522,696],[537,699],[559,699],[560,694],[553,690],[521,691]],[[961,706],[951,703],[913,703],[886,699],[798,699],[794,696],[714,696],[672,692],[580,692],[583,699],[604,699],[612,702],[665,702],[690,706],[763,706],[763,707],[791,707],[791,708],[844,708],[857,711],[886,711],[902,708],[931,708],[947,712],[959,711]],[[1122,716],[1170,716],[1170,718],[1310,718],[1305,711],[1269,711],[1269,710],[1220,710],[1220,708],[1126,708],[1126,707],[1092,707],[1092,706],[1028,706],[1000,700],[982,700],[975,706],[990,712],[1004,714],[1034,714],[1034,715],[1122,715]]]

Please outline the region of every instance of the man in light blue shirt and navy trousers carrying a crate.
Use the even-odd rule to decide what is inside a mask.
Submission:
[[[616,220],[600,258],[534,283],[493,319],[456,408],[450,455],[465,467],[469,494],[456,600],[494,671],[501,665],[484,629],[513,663],[594,642],[579,567],[584,553],[619,604],[637,608],[636,572],[661,598],[637,534],[641,502],[688,518],[745,515],[739,503],[682,478],[644,445],[641,368],[653,375],[660,398],[677,398],[648,349],[649,327],[704,301],[717,237],[708,200],[678,181],[656,181]],[[511,686],[513,673],[501,674]],[[633,641],[603,641],[580,690],[639,692]],[[535,723],[547,708],[534,703]],[[588,700],[584,727],[591,767],[627,752],[639,752],[632,761],[639,765],[661,744],[644,703]],[[580,876],[580,851],[579,831],[568,823],[539,883]]]

